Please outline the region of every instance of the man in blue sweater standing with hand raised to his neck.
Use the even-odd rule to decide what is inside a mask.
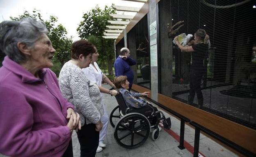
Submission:
[[[130,57],[130,50],[126,47],[123,47],[120,50],[120,55],[117,57],[117,59],[114,62],[114,69],[115,69],[115,76],[124,75],[127,76],[129,84],[129,91],[133,86],[133,71],[130,68],[130,66],[135,65],[136,61],[133,60],[133,58]]]

